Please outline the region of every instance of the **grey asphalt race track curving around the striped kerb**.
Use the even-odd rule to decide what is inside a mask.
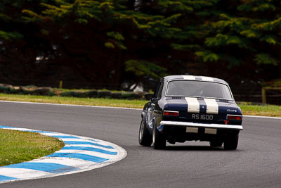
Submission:
[[[138,110],[0,102],[0,125],[94,137],[128,153],[103,168],[1,187],[281,187],[281,120],[244,118],[236,151],[208,142],[139,146],[140,121]]]

